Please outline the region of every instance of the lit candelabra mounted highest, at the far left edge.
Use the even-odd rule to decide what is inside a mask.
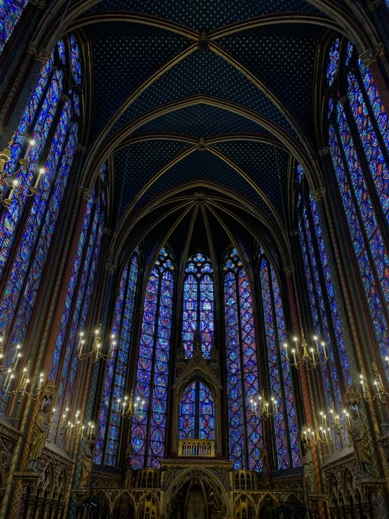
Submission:
[[[37,180],[35,182],[34,187],[28,188],[26,185],[20,184],[18,180],[19,173],[22,168],[25,168],[28,164],[26,159],[19,159],[20,167],[17,171],[13,171],[13,173],[7,173],[4,169],[4,166],[8,164],[11,160],[11,146],[14,143],[15,133],[8,143],[8,147],[5,147],[3,151],[0,152],[0,185],[3,186],[3,189],[0,192],[0,202],[5,207],[8,207],[12,199],[18,199],[22,192],[26,191],[26,188],[29,190],[29,195],[26,194],[27,197],[32,197],[38,192],[38,185],[41,181],[42,176],[44,176],[45,169],[39,168],[39,174],[37,175]],[[32,138],[29,140],[29,147],[34,147],[36,145],[36,141]],[[28,150],[27,150],[28,151]],[[4,198],[6,190],[9,190],[8,197]]]

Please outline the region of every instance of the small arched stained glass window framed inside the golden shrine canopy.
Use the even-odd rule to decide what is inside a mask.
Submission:
[[[180,398],[178,439],[188,438],[215,439],[215,403],[202,382],[192,382]]]

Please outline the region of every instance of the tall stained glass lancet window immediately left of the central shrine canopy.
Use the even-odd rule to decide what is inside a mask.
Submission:
[[[165,454],[174,270],[173,257],[164,247],[145,294],[135,387],[135,397],[145,404],[133,418],[133,468],[159,468]]]

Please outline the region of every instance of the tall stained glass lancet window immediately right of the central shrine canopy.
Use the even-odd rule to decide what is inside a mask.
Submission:
[[[236,249],[225,256],[223,271],[229,455],[235,469],[259,471],[262,425],[250,402],[259,396],[253,300]]]

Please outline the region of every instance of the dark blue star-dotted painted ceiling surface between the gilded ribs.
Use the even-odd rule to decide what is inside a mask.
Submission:
[[[339,4],[345,6],[343,0]],[[327,18],[307,0],[102,0],[81,13],[78,22],[86,23],[83,31],[90,44],[93,73],[93,113],[86,144],[89,148],[98,142],[101,149],[111,138],[118,147],[112,154],[113,228],[131,202],[133,214],[164,191],[198,179],[214,183],[216,190],[224,185],[243,195],[277,221],[258,195],[262,190],[275,206],[279,220],[284,221],[291,164],[286,149],[291,149],[291,141],[299,147],[313,145],[315,63],[327,29],[302,22],[283,25],[277,19],[270,25],[247,26],[229,34],[226,29],[214,40],[212,33],[277,13],[289,13],[290,18],[298,13]],[[146,20],[143,15],[154,18]],[[98,17],[96,23],[89,23],[93,16]],[[138,22],[126,21],[129,16]],[[169,70],[159,72],[174,56],[197,45],[202,32],[211,41],[209,48],[199,45]],[[230,55],[232,63],[217,53],[218,48]],[[264,91],[250,74],[263,84]],[[152,76],[155,79],[150,86],[119,112],[124,101]],[[187,98],[193,96],[203,98],[188,105]],[[178,102],[180,108],[174,109]],[[172,110],[166,110],[167,103]],[[151,117],[152,112],[157,112],[157,117]],[[284,136],[284,148],[272,145],[277,138],[271,129],[265,129],[265,121],[258,124],[250,117],[263,117],[277,127],[277,133]],[[132,129],[134,138],[158,133],[159,139],[122,148],[121,132],[131,129],[133,121],[142,121]],[[179,135],[169,140],[164,133]],[[180,141],[180,136],[198,142],[199,138],[231,133],[270,138],[265,144],[239,139],[238,135],[236,140],[213,145],[242,168],[253,185],[209,150],[196,150],[143,192],[164,164],[191,145]]]

